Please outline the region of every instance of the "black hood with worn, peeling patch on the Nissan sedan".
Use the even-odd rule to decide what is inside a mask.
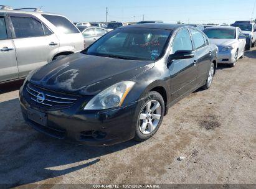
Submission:
[[[29,82],[48,90],[95,95],[154,67],[154,62],[75,53],[39,68]]]

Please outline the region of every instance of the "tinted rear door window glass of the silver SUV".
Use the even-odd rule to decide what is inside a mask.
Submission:
[[[44,36],[41,22],[31,17],[11,16],[16,38]]]

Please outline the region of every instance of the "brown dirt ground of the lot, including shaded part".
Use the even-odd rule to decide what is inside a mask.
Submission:
[[[255,184],[255,49],[235,68],[220,65],[210,90],[169,109],[141,143],[87,147],[44,136],[22,119],[22,82],[0,85],[0,183]]]

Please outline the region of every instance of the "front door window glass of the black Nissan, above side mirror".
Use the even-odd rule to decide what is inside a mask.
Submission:
[[[189,30],[181,29],[173,40],[172,53],[178,50],[193,50]]]

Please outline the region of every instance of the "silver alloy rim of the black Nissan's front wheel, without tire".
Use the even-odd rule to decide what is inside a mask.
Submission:
[[[161,119],[161,104],[156,100],[148,101],[140,113],[139,128],[142,134],[151,134]]]

